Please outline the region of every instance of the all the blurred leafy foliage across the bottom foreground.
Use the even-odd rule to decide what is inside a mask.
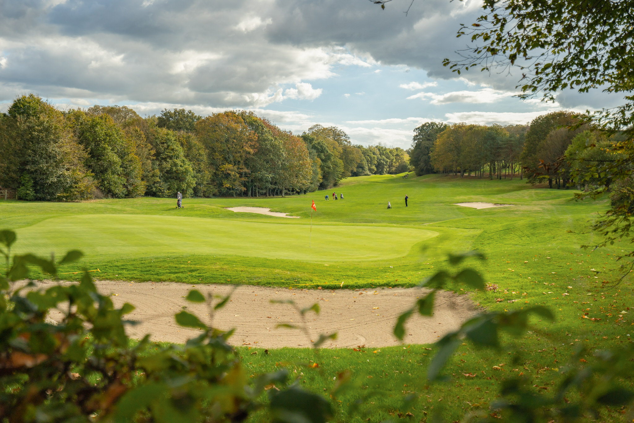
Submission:
[[[0,252],[8,264],[15,238],[13,231],[0,232],[4,245]],[[81,252],[71,251],[58,263],[32,254],[13,256],[6,276],[0,278],[3,421],[239,422],[256,412],[262,415],[262,410],[277,422],[318,423],[344,418],[334,415],[330,400],[299,387],[299,378],[288,384],[285,368],[250,379],[238,352],[226,342],[232,332],[214,329],[186,311],[175,316],[176,322],[200,330],[200,335],[184,346],[150,342],[149,335],[134,343],[125,331],[133,322],[124,318],[134,307],[124,304],[114,308],[110,297],[97,292],[88,273],[77,285],[56,285],[46,291],[37,290],[30,282],[14,286],[28,277],[29,266],[56,277],[58,265],[81,256]],[[450,256],[450,264],[460,266],[469,257],[482,258],[477,253]],[[456,273],[438,271],[421,284],[427,294],[399,316],[394,328],[399,339],[403,339],[404,325],[411,315],[432,315],[437,291],[450,282],[485,288],[481,275],[469,268]],[[187,299],[206,302],[210,315],[228,301],[224,297],[214,304],[214,298],[205,298],[198,290],[191,290]],[[48,313],[54,310],[62,314],[60,323],[48,320]],[[318,306],[298,311],[303,316],[318,311]],[[445,335],[437,342],[427,378],[408,381],[411,390],[404,394],[399,409],[409,413],[425,397],[426,386],[446,379],[443,374],[448,359],[465,342],[507,356],[514,349],[509,337],[519,337],[528,329],[539,330],[531,328],[531,316],[553,318],[552,312],[541,306],[481,313]],[[316,347],[328,338],[332,335],[321,335]],[[536,393],[530,379],[519,373],[501,382],[498,400],[488,410],[473,412],[465,420],[574,422],[597,417],[605,406],[630,405],[634,393],[624,386],[623,378],[634,374],[632,344],[620,350],[595,351],[590,363],[579,359],[583,353],[578,350],[568,365],[554,369],[562,377],[552,393]],[[514,367],[521,367],[521,352],[515,351],[512,357]],[[352,393],[355,400],[347,417],[359,416],[365,403],[382,388],[379,381],[373,385],[368,389],[345,370],[330,396],[336,400],[337,395]],[[436,413],[430,417],[442,420],[441,410]]]

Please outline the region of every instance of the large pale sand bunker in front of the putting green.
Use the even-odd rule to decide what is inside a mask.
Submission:
[[[197,330],[179,327],[174,321],[174,314],[181,311],[183,306],[202,318],[205,323],[210,323],[210,316],[207,315],[209,309],[205,305],[185,301],[184,296],[192,289],[192,286],[186,283],[95,283],[102,293],[119,294],[112,296],[115,306],[131,303],[137,307],[127,315],[127,318],[141,322],[139,325],[127,327],[131,337],[140,338],[150,333],[154,341],[184,342],[195,336]],[[54,282],[41,282],[44,289],[53,284]],[[207,292],[226,295],[233,289],[230,285],[196,285],[196,288],[205,296]],[[327,342],[324,346],[391,346],[401,344],[401,341],[392,335],[396,318],[410,308],[422,294],[424,291],[421,289],[404,288],[331,291],[241,285],[233,292],[232,301],[216,313],[213,322],[219,329],[236,329],[229,340],[233,345],[302,348],[309,346],[311,339],[318,339],[319,334],[339,332],[335,341]],[[292,299],[300,307],[318,303],[321,308],[320,315],[315,315],[312,311],[306,315],[306,325],[309,327],[311,339],[306,339],[297,329],[276,329],[279,323],[301,324],[301,315],[288,304],[271,304],[271,299]],[[474,315],[473,303],[467,296],[440,292],[436,296],[434,316],[413,316],[406,327],[403,342],[435,342],[447,332],[458,329],[462,322]],[[51,313],[53,319],[59,319],[60,316],[58,312]]]

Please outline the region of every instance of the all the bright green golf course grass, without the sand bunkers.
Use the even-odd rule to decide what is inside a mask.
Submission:
[[[469,265],[498,289],[470,292],[475,303],[489,310],[540,304],[555,311],[555,322],[532,322],[531,333],[517,340],[517,354],[464,345],[448,369],[450,381],[427,387],[425,368],[434,353],[425,349],[429,346],[381,348],[377,353],[284,348],[265,354],[240,348],[250,374],[291,363],[291,371],[297,371],[292,375],[316,392],[330,391],[333,377],[346,369],[353,371],[359,386],[366,386],[364,393],[382,382],[382,391],[363,406],[368,415],[345,415],[353,393],[337,398],[341,421],[398,419],[398,413],[407,411],[399,408],[399,401],[408,391],[420,394],[420,402],[410,410],[411,421],[424,420],[432,406],[444,407],[445,420],[455,421],[465,412],[488,407],[498,382],[515,374],[514,369],[531,377],[536,391],[545,392],[560,381],[559,369],[579,346],[588,351],[584,360],[591,361],[595,349],[619,346],[634,335],[629,312],[620,313],[632,308],[630,280],[616,287],[604,283],[620,275],[614,254],[625,248],[619,242],[597,251],[580,248],[600,239],[588,228],[597,212],[605,210],[605,199],[574,202],[570,190],[533,188],[518,180],[444,176],[349,178],[336,191],[346,199],[325,202],[326,192],[287,198],[185,199],[186,208],[179,211],[174,200],[161,198],[70,204],[0,201],[0,228],[18,230],[20,251],[60,255],[80,247],[86,258],[80,266],[66,266],[66,271],[100,268],[98,278],[295,288],[327,283],[413,286],[446,268],[447,252],[477,249],[488,258]],[[407,208],[405,194],[410,197]],[[313,199],[314,244],[308,248]],[[387,201],[393,209],[385,209]],[[467,201],[514,206],[476,210],[452,205]],[[301,219],[224,209],[240,205],[271,207]],[[467,292],[466,287],[455,290]],[[595,320],[583,318],[583,313]],[[319,367],[301,366],[310,360]],[[492,370],[500,364],[503,370]],[[599,420],[624,421],[621,411],[605,410]]]

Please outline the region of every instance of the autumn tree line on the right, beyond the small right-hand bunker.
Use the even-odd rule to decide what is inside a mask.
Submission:
[[[490,179],[519,176],[529,183],[566,188],[574,174],[614,159],[610,146],[623,138],[582,119],[560,110],[540,115],[528,125],[427,122],[414,130],[410,165],[419,176],[434,172]],[[592,180],[585,185],[592,185]]]

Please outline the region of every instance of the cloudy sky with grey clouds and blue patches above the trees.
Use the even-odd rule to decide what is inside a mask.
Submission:
[[[422,122],[526,123],[619,103],[566,92],[521,101],[519,72],[462,77],[442,65],[479,0],[0,0],[0,111],[36,93],[60,108],[254,110],[301,133],[407,148]]]

